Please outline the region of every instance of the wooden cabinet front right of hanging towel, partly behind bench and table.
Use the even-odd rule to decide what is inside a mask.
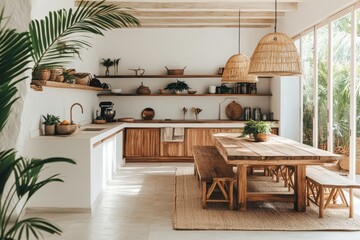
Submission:
[[[185,136],[185,156],[193,156],[193,146],[214,146],[212,134],[221,132],[241,132],[237,128],[187,128]]]

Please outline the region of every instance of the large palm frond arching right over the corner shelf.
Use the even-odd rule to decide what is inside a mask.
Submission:
[[[85,38],[103,35],[103,31],[139,26],[140,22],[114,4],[82,1],[76,10],[50,12],[44,20],[30,23],[34,69],[40,66],[66,65],[84,48]]]

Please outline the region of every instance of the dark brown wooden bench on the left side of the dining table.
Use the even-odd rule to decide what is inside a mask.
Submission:
[[[201,182],[202,208],[208,202],[227,202],[229,209],[234,208],[235,174],[232,166],[226,164],[223,157],[213,146],[194,146],[194,173]],[[218,189],[222,199],[213,198],[214,190]]]

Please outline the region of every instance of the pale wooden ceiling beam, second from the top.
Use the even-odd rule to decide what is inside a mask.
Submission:
[[[229,17],[238,18],[239,12],[235,11],[129,11],[137,18],[141,17]],[[278,17],[284,17],[285,13],[278,13]],[[241,19],[274,19],[273,12],[241,12]]]

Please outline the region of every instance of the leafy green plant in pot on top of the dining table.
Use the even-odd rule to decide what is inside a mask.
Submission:
[[[270,122],[250,120],[245,123],[242,137],[252,135],[256,142],[266,142],[271,134]]]

